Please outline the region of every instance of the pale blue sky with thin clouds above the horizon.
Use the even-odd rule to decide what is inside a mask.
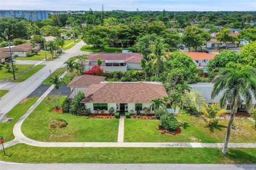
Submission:
[[[9,10],[255,11],[256,0],[0,0]]]

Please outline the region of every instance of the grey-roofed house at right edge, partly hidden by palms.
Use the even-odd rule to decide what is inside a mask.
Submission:
[[[212,83],[197,83],[197,84],[188,84],[188,86],[191,88],[192,91],[198,91],[202,94],[202,96],[204,97],[205,101],[203,101],[203,103],[208,103],[208,104],[214,104],[220,103],[220,99],[221,96],[223,94],[223,92],[220,92],[220,94],[218,96],[216,96],[214,99],[211,99],[211,92],[213,90],[213,84]],[[252,95],[253,96],[253,95]],[[198,108],[200,108],[201,106],[203,106],[202,104],[199,104]],[[242,105],[240,105],[238,107],[237,112],[248,112],[251,113],[252,112],[252,108],[255,108],[256,106],[256,100],[255,98],[253,98],[252,100],[252,107],[247,107],[245,103],[242,103]],[[227,110],[228,113],[231,112],[230,110],[230,104],[227,104],[224,109]]]

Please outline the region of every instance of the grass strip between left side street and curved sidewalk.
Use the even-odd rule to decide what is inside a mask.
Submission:
[[[7,123],[0,122],[0,136],[3,136],[6,142],[14,139],[14,135],[12,133],[14,124],[23,114],[27,112],[27,110],[36,102],[37,99],[38,97],[22,100],[21,103],[13,107],[11,111],[6,115],[7,117],[12,117],[14,119]]]

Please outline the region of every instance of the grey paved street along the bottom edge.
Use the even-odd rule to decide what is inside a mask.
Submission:
[[[0,161],[5,170],[255,170],[256,164],[20,164]]]

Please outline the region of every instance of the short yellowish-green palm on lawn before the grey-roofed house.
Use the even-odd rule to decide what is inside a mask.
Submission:
[[[206,117],[207,124],[212,124],[216,117],[220,117],[222,114],[227,113],[226,109],[219,109],[219,104],[207,104],[204,103],[204,107],[201,107],[200,112]]]

